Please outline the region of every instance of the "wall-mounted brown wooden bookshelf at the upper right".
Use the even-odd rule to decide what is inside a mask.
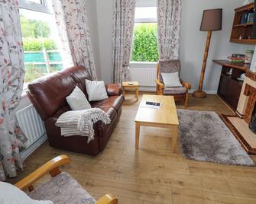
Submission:
[[[230,42],[256,44],[256,39],[252,39],[254,23],[241,24],[242,14],[244,12],[254,12],[254,3],[235,9],[235,17],[232,27]],[[240,40],[241,37],[241,40]]]

